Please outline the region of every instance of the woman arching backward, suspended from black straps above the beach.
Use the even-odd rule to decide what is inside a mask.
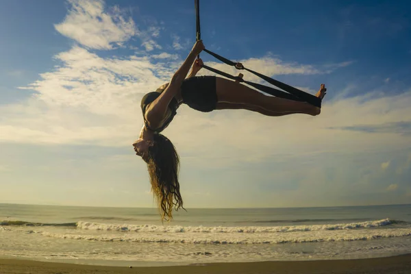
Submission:
[[[173,120],[179,105],[185,103],[201,112],[243,109],[266,116],[295,113],[315,116],[321,111],[306,102],[263,95],[229,79],[195,77],[203,65],[200,59],[195,62],[195,58],[203,49],[203,42],[197,41],[170,83],[147,93],[141,100],[144,125],[133,147],[136,154],[147,162],[151,190],[158,200],[162,220],[173,219],[173,207],[175,210],[183,208],[178,181],[179,155],[171,141],[160,134]],[[186,78],[191,64],[192,71]],[[325,90],[324,84],[321,84],[316,97],[323,99]]]

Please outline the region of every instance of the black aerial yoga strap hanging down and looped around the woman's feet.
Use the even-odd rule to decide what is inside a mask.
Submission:
[[[196,12],[196,29],[197,29],[197,34],[196,38],[197,40],[201,40],[201,32],[200,32],[200,8],[199,8],[199,0],[195,0],[195,12]],[[227,77],[229,79],[236,80],[238,82],[242,82],[245,84],[248,84],[250,86],[253,86],[254,88],[257,88],[258,90],[261,90],[262,92],[266,92],[269,95],[273,95],[275,97],[281,97],[284,99],[290,99],[294,101],[306,101],[307,103],[310,103],[311,105],[314,105],[316,107],[321,108],[321,99],[319,97],[316,97],[314,95],[310,95],[310,93],[304,92],[302,90],[299,90],[298,88],[294,88],[292,86],[289,86],[288,84],[284,84],[282,82],[279,82],[271,77],[268,77],[266,75],[262,75],[261,73],[258,73],[256,71],[252,71],[251,69],[247,69],[245,66],[238,62],[232,62],[231,60],[228,60],[227,58],[224,58],[221,55],[218,55],[212,51],[209,51],[208,49],[203,49],[203,51],[206,51],[206,53],[214,56],[214,58],[220,60],[221,62],[228,64],[229,66],[234,66],[236,69],[241,70],[245,69],[246,71],[249,71],[250,73],[253,73],[254,75],[257,75],[258,77],[266,80],[266,82],[269,82],[270,84],[273,84],[274,86],[277,86],[278,88],[281,88],[283,90],[286,90],[287,92],[284,92],[283,90],[278,90],[277,88],[271,88],[269,86],[264,86],[262,84],[257,84],[253,82],[246,81],[245,79],[242,79],[240,76],[233,76],[230,75],[229,73],[225,73],[223,71],[219,71],[218,69],[213,69],[210,66],[203,65],[204,69],[208,69],[209,71],[212,71],[216,74],[223,75],[224,77]],[[199,57],[199,56],[198,56]]]

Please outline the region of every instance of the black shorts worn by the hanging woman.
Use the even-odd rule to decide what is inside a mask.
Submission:
[[[201,112],[216,109],[216,77],[197,76],[185,79],[182,84],[183,103]]]

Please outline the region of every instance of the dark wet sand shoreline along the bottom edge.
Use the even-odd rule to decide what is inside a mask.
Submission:
[[[0,259],[1,274],[119,274],[119,273],[289,273],[289,274],[338,274],[338,273],[411,273],[411,253],[401,256],[358,260],[316,260],[288,262],[232,262],[188,266],[92,266],[61,262],[38,262],[32,260]]]

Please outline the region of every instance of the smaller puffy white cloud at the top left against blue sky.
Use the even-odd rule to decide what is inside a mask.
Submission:
[[[125,18],[119,8],[104,10],[102,0],[69,0],[71,9],[58,32],[92,49],[112,49],[138,34],[132,18]]]

